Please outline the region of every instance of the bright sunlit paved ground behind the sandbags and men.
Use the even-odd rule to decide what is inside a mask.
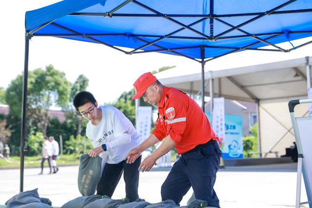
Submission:
[[[155,171],[162,170],[162,171]],[[61,167],[57,174],[38,175],[39,169],[25,169],[24,190],[39,188],[41,197],[49,198],[54,206],[79,196],[78,167]],[[160,187],[168,169],[140,173],[139,196],[148,202],[161,201]],[[20,170],[0,170],[0,205],[19,192]],[[217,173],[215,190],[222,208],[290,208],[294,207],[296,164],[229,167]],[[186,205],[190,190],[181,205]],[[125,196],[121,179],[112,198]],[[304,185],[301,201],[307,201]],[[308,207],[308,206],[306,206]]]

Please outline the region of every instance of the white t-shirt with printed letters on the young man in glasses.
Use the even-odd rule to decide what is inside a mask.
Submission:
[[[124,160],[126,154],[141,144],[141,138],[131,121],[114,106],[100,106],[102,119],[98,125],[91,121],[87,124],[86,135],[93,147],[101,146],[116,139],[124,132],[131,135],[131,141],[120,147],[103,151],[99,156],[108,154],[107,163],[117,164]]]

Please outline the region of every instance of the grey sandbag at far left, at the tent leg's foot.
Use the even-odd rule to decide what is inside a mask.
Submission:
[[[47,204],[42,202],[46,202]],[[20,192],[9,199],[5,205],[7,208],[52,208],[50,206],[52,203],[49,199],[42,198],[42,202],[38,194],[38,189],[33,189]]]

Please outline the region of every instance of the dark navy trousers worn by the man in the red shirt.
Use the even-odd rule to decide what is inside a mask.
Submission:
[[[161,200],[172,199],[178,205],[192,186],[196,199],[220,207],[214,185],[221,153],[218,143],[210,140],[182,154],[161,186]]]

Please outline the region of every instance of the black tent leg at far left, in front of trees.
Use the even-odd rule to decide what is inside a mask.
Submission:
[[[23,95],[21,107],[21,129],[20,129],[20,192],[23,191],[24,184],[24,145],[26,131],[26,107],[27,107],[27,78],[28,78],[28,55],[29,39],[31,36],[25,34],[25,59],[24,59],[24,76],[23,76]]]

